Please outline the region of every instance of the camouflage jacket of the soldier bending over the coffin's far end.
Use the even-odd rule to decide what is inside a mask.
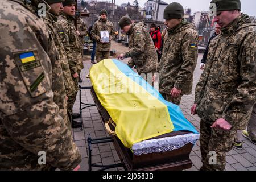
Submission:
[[[131,25],[131,30],[129,31],[129,51],[124,56],[131,57],[128,65],[131,68],[136,65],[139,74],[156,72],[158,55],[144,22]]]

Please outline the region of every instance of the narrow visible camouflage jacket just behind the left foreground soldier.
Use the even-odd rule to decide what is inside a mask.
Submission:
[[[74,84],[72,80],[71,71],[68,65],[68,58],[65,53],[63,43],[61,42],[59,33],[56,30],[57,16],[51,13],[48,13],[47,16],[49,17],[49,20],[51,20],[52,26],[55,29],[55,33],[56,33],[54,36],[54,42],[60,54],[60,62],[61,62],[61,68],[63,71],[65,90],[66,90],[67,96],[72,96],[72,94],[77,90],[79,90],[79,88],[77,84]]]

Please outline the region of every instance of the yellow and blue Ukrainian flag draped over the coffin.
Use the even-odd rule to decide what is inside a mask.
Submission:
[[[128,148],[172,131],[197,133],[179,106],[164,100],[156,89],[118,60],[102,60],[93,65],[90,80],[116,124],[118,138]]]

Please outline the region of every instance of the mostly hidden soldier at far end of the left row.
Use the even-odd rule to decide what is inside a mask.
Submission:
[[[77,18],[77,35],[79,36],[80,39],[80,49],[81,49],[81,55],[82,55],[82,59],[84,57],[84,37],[88,34],[88,28],[87,28],[87,24],[85,23],[85,21],[82,18]],[[79,65],[79,69],[84,69],[84,64]],[[79,74],[79,82],[82,82],[82,79],[80,77]]]

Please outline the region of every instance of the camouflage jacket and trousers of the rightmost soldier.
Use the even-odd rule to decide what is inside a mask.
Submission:
[[[225,152],[231,150],[236,130],[246,128],[255,103],[256,23],[241,14],[209,44],[207,64],[195,90],[196,111],[201,118],[202,169],[224,170]],[[231,130],[210,129],[219,118]],[[217,165],[209,165],[209,151]]]

